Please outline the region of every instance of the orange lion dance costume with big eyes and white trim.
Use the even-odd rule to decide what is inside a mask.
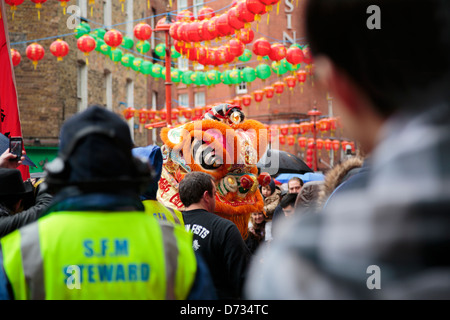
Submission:
[[[256,163],[267,148],[267,130],[259,121],[245,120],[241,108],[230,104],[214,106],[201,120],[164,128],[163,169],[158,201],[184,210],[178,183],[191,171],[211,175],[216,184],[216,214],[231,220],[245,239],[252,212],[262,212],[260,185],[270,175],[258,176]]]

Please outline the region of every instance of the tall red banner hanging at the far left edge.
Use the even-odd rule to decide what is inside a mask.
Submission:
[[[4,0],[0,0],[0,132],[7,137],[21,137],[16,81],[9,47],[8,22]],[[30,177],[28,166],[18,168],[24,180]]]

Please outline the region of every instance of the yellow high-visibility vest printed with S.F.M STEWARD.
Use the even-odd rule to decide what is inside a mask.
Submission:
[[[15,299],[186,299],[192,235],[144,212],[53,212],[1,239]]]

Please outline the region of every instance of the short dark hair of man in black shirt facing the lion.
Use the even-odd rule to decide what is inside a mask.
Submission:
[[[178,191],[181,202],[189,207],[200,202],[205,191],[213,196],[213,178],[201,171],[190,172],[181,180]]]

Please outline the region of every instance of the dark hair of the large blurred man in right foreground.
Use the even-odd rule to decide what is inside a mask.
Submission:
[[[369,7],[381,29],[370,29]],[[385,117],[448,94],[450,1],[309,0],[306,37],[314,56],[328,56]]]

